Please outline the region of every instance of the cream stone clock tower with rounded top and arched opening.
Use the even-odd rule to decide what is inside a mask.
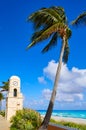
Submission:
[[[17,110],[23,109],[23,95],[20,92],[20,78],[12,76],[9,79],[9,91],[6,101],[6,119],[15,115]]]

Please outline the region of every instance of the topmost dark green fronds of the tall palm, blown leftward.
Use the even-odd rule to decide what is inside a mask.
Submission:
[[[63,14],[64,10],[59,7],[56,9],[55,7],[50,8],[42,8],[39,11],[33,13],[28,17],[28,21],[31,20],[34,22],[35,29],[40,28],[42,25],[47,25],[48,27],[51,26],[55,22],[63,21]],[[60,12],[62,11],[62,14]]]

